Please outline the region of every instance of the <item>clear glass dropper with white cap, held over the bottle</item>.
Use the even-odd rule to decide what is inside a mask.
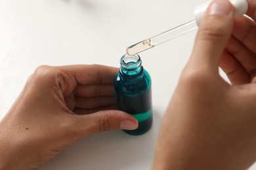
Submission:
[[[185,24],[174,27],[173,29],[169,29],[168,31],[160,33],[159,35],[156,35],[150,39],[146,39],[144,41],[140,41],[136,44],[128,46],[126,48],[126,53],[129,56],[133,56],[139,52],[148,50],[149,48],[152,48],[159,44],[163,44],[164,42],[167,42],[175,37],[179,37],[180,35],[184,35],[185,33],[196,29],[200,24],[203,14],[210,3],[211,2],[207,2],[196,7],[196,9],[194,10],[195,20],[186,22]],[[230,0],[230,3],[232,3],[232,5],[234,6],[235,17],[242,16],[243,14],[245,14],[245,12],[247,12],[248,3],[246,0]]]

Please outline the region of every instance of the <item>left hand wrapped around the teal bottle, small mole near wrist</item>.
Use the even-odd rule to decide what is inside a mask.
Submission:
[[[117,71],[103,65],[39,67],[1,120],[0,169],[39,167],[87,135],[136,129],[133,116],[114,110]]]

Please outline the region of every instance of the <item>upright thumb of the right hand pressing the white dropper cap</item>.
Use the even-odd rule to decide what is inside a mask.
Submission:
[[[215,0],[205,11],[188,65],[218,73],[219,60],[232,33],[234,9],[228,0]]]

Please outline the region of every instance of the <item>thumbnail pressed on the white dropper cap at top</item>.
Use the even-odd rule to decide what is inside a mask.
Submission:
[[[232,10],[232,4],[228,0],[215,0],[211,3],[209,15],[228,15]]]

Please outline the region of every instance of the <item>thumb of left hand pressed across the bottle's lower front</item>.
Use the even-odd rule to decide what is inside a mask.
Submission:
[[[81,135],[91,135],[113,129],[137,129],[138,121],[131,114],[119,110],[102,110],[92,114],[75,115]]]

